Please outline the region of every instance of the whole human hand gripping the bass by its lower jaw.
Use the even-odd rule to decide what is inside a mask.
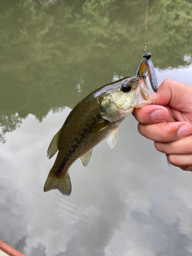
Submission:
[[[153,100],[156,105],[134,109],[139,133],[154,140],[170,163],[192,171],[192,86],[166,79]]]

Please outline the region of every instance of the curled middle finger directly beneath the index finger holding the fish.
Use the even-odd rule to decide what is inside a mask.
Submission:
[[[191,135],[192,124],[189,122],[139,123],[138,131],[148,139],[161,143],[169,143]]]

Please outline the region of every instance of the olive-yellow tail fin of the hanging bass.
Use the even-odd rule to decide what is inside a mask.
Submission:
[[[58,189],[63,195],[69,196],[71,194],[71,181],[69,173],[67,176],[56,176],[55,174],[49,174],[44,186],[44,192],[51,189]]]

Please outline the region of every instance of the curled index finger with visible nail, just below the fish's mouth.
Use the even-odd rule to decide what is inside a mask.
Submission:
[[[159,123],[166,121],[169,112],[164,106],[160,105],[147,105],[141,109],[134,109],[133,112],[136,120],[143,124]]]

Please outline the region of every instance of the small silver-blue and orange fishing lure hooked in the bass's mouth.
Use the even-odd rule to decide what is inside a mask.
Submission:
[[[146,67],[148,77],[150,78],[152,89],[154,90],[154,92],[157,92],[157,89],[158,89],[157,76],[155,73],[153,62],[151,60],[151,56],[152,55],[149,52],[143,55],[143,59],[141,60],[138,68],[136,69],[136,75],[140,76],[141,74],[143,74],[143,70]]]

